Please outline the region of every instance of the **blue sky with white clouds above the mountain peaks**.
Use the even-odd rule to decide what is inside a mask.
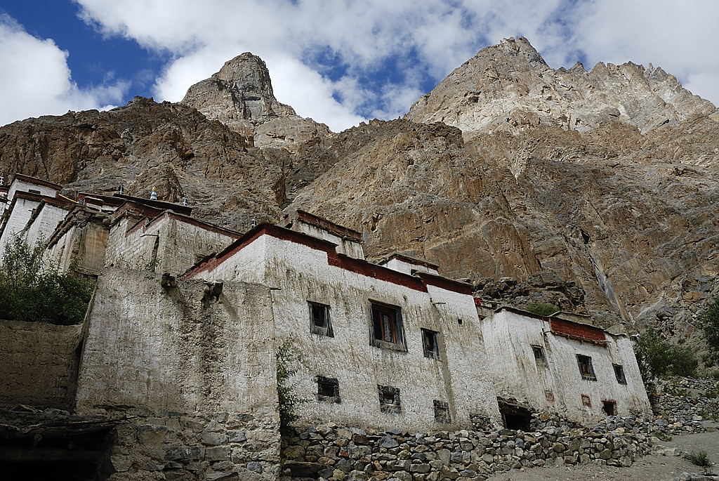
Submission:
[[[0,125],[180,101],[252,52],[278,101],[341,132],[519,36],[552,68],[652,63],[719,105],[717,19],[717,0],[0,0]]]

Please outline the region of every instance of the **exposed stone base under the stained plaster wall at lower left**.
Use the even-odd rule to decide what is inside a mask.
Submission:
[[[123,415],[109,452],[109,481],[278,479],[280,435],[267,419],[226,412]]]

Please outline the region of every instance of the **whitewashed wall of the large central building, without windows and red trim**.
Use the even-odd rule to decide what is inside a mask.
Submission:
[[[270,235],[196,275],[215,281],[235,275],[278,288],[273,290],[278,344],[293,339],[300,354],[294,380],[298,395],[309,400],[301,406],[305,421],[422,430],[467,426],[470,414],[499,418],[483,372],[487,361],[472,296],[431,286],[428,293],[368,277],[329,265],[321,249]],[[329,306],[334,337],[311,333],[308,301]],[[371,345],[370,301],[401,309],[407,352]],[[439,359],[424,357],[422,328],[440,333]],[[318,400],[318,375],[339,380],[340,403]],[[377,385],[399,388],[400,413],[380,411]],[[449,405],[451,424],[435,420],[434,400]]]

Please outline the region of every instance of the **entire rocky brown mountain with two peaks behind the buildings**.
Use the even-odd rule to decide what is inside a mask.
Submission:
[[[521,38],[405,119],[333,134],[280,104],[246,53],[178,104],[1,127],[0,169],[69,195],[156,186],[239,231],[302,208],[362,232],[370,258],[426,258],[482,296],[684,336],[719,294],[718,118],[661,68],[554,70]]]

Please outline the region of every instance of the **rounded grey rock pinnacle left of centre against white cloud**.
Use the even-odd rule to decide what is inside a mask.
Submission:
[[[275,99],[265,62],[249,52],[191,86],[180,104],[195,107],[246,137],[254,136],[260,147],[294,150],[308,139],[329,134],[326,125],[298,116]]]

